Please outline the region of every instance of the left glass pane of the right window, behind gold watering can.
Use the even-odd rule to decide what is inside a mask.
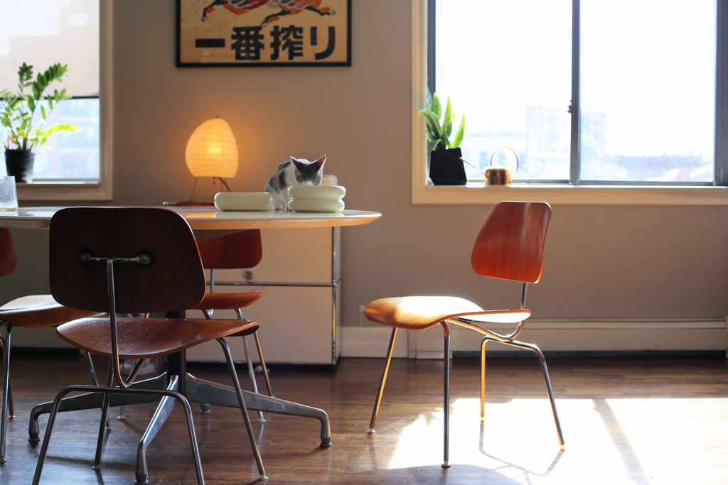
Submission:
[[[571,0],[436,6],[436,90],[443,108],[449,95],[465,115],[464,158],[485,168],[505,145],[518,153],[518,179],[568,180]],[[494,165],[515,166],[508,153],[499,151]]]

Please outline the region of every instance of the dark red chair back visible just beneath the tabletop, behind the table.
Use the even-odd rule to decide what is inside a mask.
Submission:
[[[210,207],[208,201],[183,201],[169,204],[172,207]],[[254,268],[263,258],[261,230],[250,229],[239,233],[227,234],[205,239],[197,243],[202,265],[208,270],[232,270]]]

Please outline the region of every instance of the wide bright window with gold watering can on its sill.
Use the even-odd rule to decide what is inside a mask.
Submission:
[[[414,9],[426,20],[414,18],[413,33],[427,22],[427,87],[465,114],[463,156],[480,169],[508,146],[520,162],[515,186],[726,185],[716,156],[724,135],[716,127],[723,54],[715,0],[423,0],[425,7]],[[414,60],[414,96],[418,69]],[[507,154],[496,152],[493,164],[513,170]],[[416,163],[414,201],[424,193]],[[466,172],[482,183],[475,169]],[[446,192],[430,192],[438,191]]]

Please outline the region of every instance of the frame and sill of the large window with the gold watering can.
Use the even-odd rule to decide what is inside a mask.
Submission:
[[[575,66],[571,86],[571,173],[579,164],[579,0],[572,0],[572,66]],[[654,183],[598,183],[590,185],[572,179],[568,183],[514,183],[508,186],[427,185],[427,137],[422,116],[427,97],[427,56],[434,46],[428,42],[428,27],[434,31],[434,1],[412,0],[412,203],[413,204],[494,204],[502,200],[545,200],[552,204],[675,204],[728,205],[728,157],[724,147],[728,140],[728,124],[723,122],[726,90],[723,65],[727,60],[728,9],[716,1],[716,121],[715,121],[715,182],[713,185],[660,185]],[[434,70],[434,65],[429,66]],[[576,102],[574,102],[576,100]],[[574,136],[574,132],[577,136]]]

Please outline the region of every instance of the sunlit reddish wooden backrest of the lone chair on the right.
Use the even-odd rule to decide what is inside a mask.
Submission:
[[[480,276],[536,283],[551,222],[545,202],[500,202],[486,215],[470,262]]]

